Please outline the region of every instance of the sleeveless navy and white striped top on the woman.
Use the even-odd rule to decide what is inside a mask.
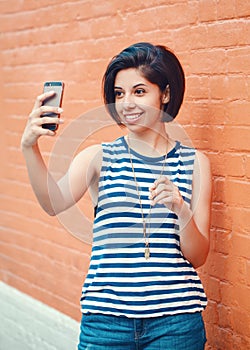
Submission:
[[[149,187],[160,176],[165,156],[146,157],[131,149],[147,221],[150,259],[141,208],[124,137],[103,143],[98,207],[88,275],[82,289],[82,313],[133,318],[202,311],[207,299],[193,266],[180,249],[177,215],[164,205],[152,207]],[[178,186],[190,205],[195,149],[176,142],[167,154],[164,176]]]

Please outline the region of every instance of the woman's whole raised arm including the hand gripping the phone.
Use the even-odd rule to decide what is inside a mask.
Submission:
[[[48,172],[38,147],[39,137],[55,135],[54,131],[43,129],[42,124],[61,122],[59,118],[40,118],[44,112],[62,112],[54,107],[42,106],[42,102],[49,95],[51,93],[37,97],[22,136],[21,148],[33,191],[41,207],[49,215],[56,215],[74,205],[98,177],[101,166],[101,145],[91,146],[79,153],[66,175],[56,182]]]

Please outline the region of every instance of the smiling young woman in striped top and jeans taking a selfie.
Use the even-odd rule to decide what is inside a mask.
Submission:
[[[138,43],[115,56],[103,78],[111,117],[127,128],[114,142],[77,155],[58,182],[37,140],[53,136],[40,95],[22,137],[30,181],[56,215],[93,193],[93,248],[81,306],[79,350],[199,350],[206,342],[206,296],[195,268],[209,249],[211,175],[207,158],[171,139],[185,90],[166,47]],[[39,177],[36,174],[39,173]],[[49,179],[49,181],[48,181]]]

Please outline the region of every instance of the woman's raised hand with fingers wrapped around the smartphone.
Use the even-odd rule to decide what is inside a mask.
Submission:
[[[55,94],[55,92],[50,91],[39,95],[36,98],[34,107],[32,112],[29,115],[26,127],[23,132],[21,147],[30,148],[37,143],[37,140],[42,135],[54,136],[55,131],[44,129],[42,127],[43,124],[62,124],[63,120],[60,118],[54,117],[41,117],[43,113],[56,113],[60,114],[63,112],[61,108],[51,107],[51,106],[43,106],[43,101],[45,101],[48,97],[51,97]]]

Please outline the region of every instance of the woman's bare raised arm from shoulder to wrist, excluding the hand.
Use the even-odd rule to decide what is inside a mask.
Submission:
[[[23,149],[30,183],[41,207],[51,216],[73,206],[98,178],[101,146],[79,153],[67,173],[56,182],[49,173],[38,145]]]

